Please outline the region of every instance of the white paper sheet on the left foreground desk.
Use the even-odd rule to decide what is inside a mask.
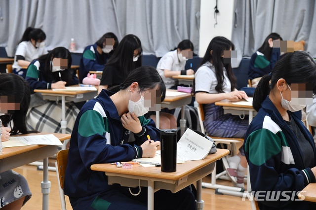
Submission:
[[[27,145],[57,145],[62,146],[60,140],[53,134],[34,135],[24,137],[10,137],[8,141],[2,142],[2,147],[27,146]]]

